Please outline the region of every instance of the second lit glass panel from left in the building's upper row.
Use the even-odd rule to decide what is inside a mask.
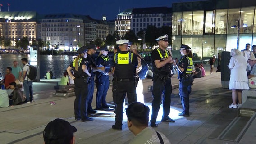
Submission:
[[[183,24],[182,31],[183,35],[191,35],[192,34],[192,11],[191,12],[183,12]]]

